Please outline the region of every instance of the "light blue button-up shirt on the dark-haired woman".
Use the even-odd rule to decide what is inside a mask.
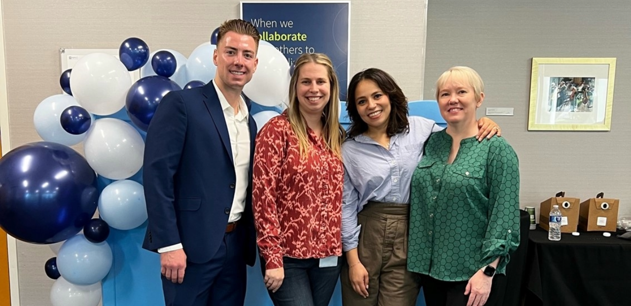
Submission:
[[[344,191],[342,194],[342,247],[356,248],[360,225],[357,213],[368,201],[410,203],[414,169],[423,157],[423,145],[433,132],[442,130],[430,119],[410,116],[410,132],[390,138],[390,150],[365,135],[342,145]]]

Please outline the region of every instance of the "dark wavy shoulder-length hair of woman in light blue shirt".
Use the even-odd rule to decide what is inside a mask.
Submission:
[[[409,132],[408,98],[405,97],[403,90],[397,85],[394,78],[386,71],[378,68],[369,68],[353,76],[348,85],[348,91],[346,92],[346,112],[348,112],[348,118],[351,119],[351,125],[348,128],[348,137],[355,137],[368,130],[368,125],[362,120],[362,117],[360,117],[357,111],[357,104],[355,104],[355,99],[357,98],[355,90],[357,90],[357,85],[363,80],[371,80],[377,83],[379,89],[381,89],[384,94],[388,95],[388,99],[390,100],[390,116],[388,117],[388,125],[386,128],[388,136]]]

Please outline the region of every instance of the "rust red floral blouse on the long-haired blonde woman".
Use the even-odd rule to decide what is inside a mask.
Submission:
[[[300,157],[286,113],[256,138],[252,206],[266,269],[298,259],[341,255],[342,162],[309,129],[311,148]]]

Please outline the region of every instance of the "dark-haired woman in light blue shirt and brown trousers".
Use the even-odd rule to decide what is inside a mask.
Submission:
[[[403,91],[376,68],[353,76],[346,110],[351,126],[342,146],[343,305],[415,305],[420,283],[406,269],[411,176],[425,141],[442,128],[408,117]],[[479,140],[499,135],[492,120],[478,124]]]

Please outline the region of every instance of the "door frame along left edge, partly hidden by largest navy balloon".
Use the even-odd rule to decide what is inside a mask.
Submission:
[[[6,59],[4,54],[4,8],[0,0],[0,155],[11,149],[9,142],[9,103],[7,98]],[[15,238],[0,231],[0,306],[20,306],[18,252]],[[9,295],[10,298],[5,296]]]

